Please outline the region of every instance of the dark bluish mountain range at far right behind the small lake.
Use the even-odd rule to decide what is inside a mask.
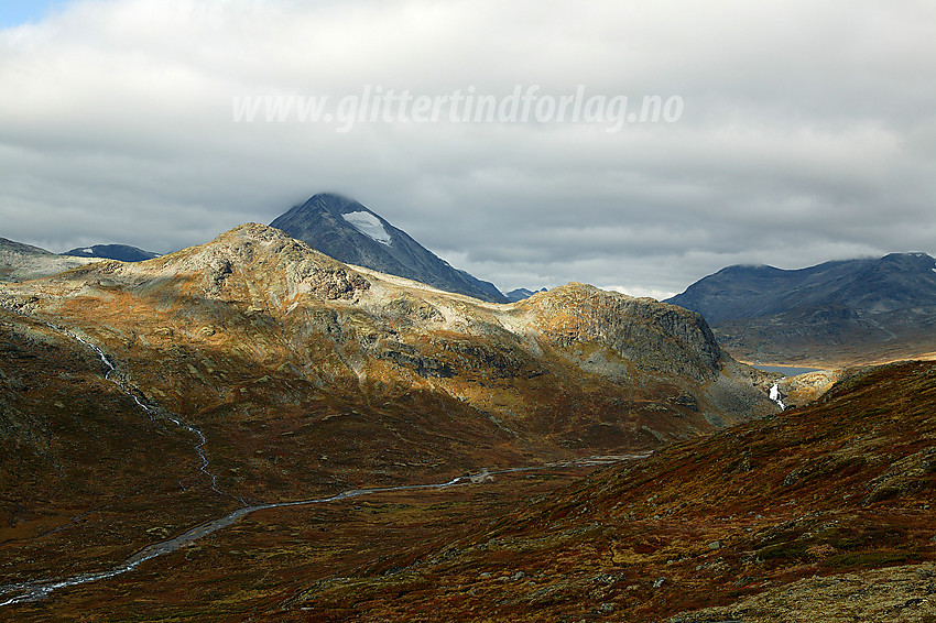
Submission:
[[[666,302],[701,314],[745,359],[836,363],[936,350],[936,260],[926,253],[793,271],[728,266]]]

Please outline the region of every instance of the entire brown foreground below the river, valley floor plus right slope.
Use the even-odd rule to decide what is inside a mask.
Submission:
[[[258,512],[138,571],[6,613],[932,623],[934,413],[936,364],[868,369],[806,407],[591,476],[508,472]]]

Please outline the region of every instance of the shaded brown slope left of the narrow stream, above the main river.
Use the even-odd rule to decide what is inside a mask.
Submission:
[[[0,584],[97,570],[236,506],[172,428],[90,349],[0,310]]]

